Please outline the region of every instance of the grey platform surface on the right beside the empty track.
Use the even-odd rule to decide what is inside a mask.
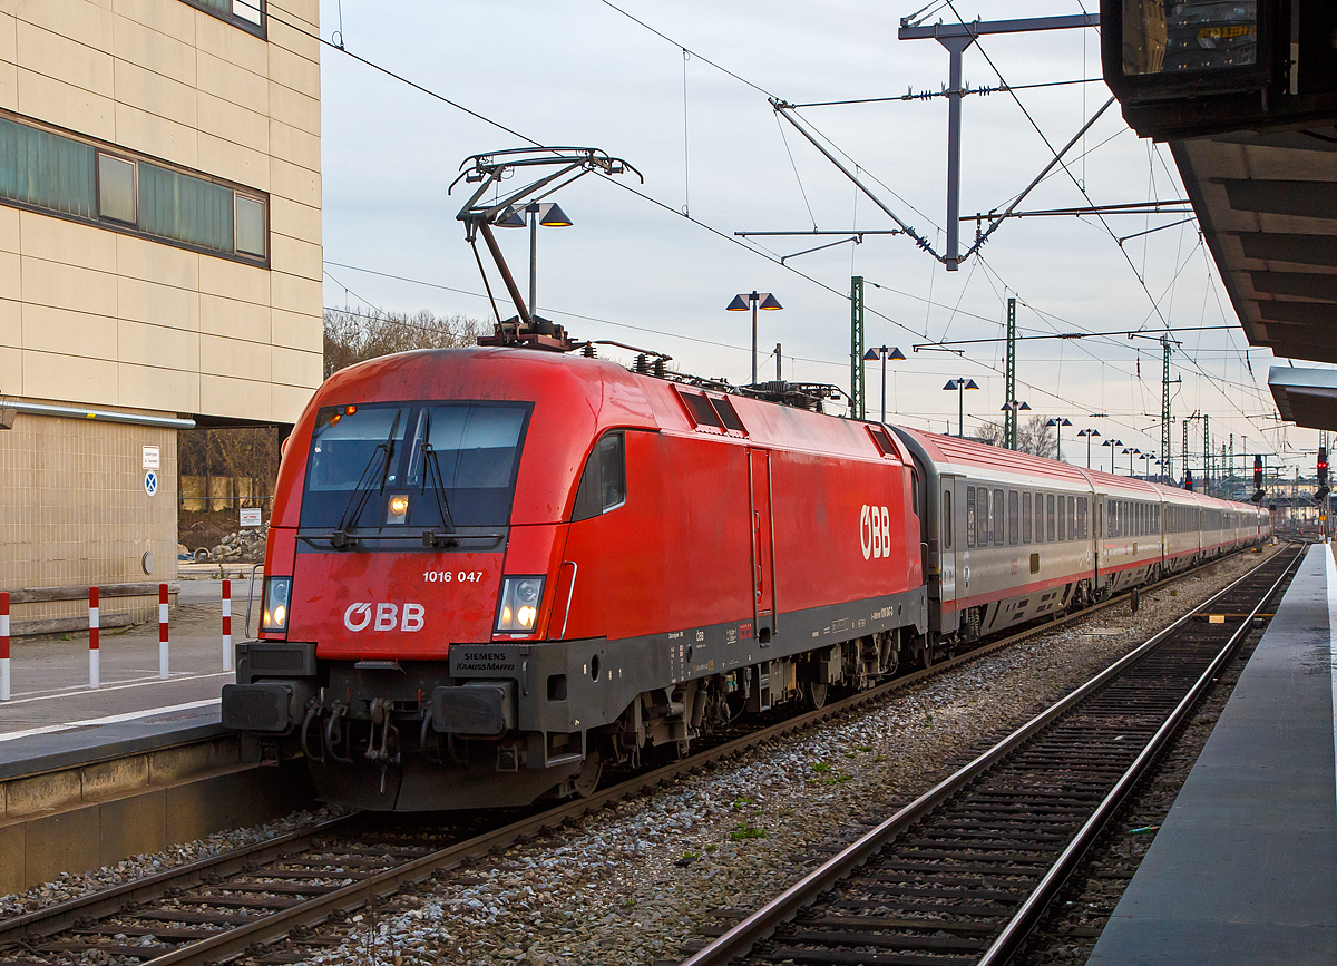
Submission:
[[[1337,565],[1309,549],[1091,966],[1337,962]]]

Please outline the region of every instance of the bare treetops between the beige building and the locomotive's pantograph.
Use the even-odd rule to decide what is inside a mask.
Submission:
[[[473,345],[483,333],[483,322],[460,313],[436,316],[427,309],[413,314],[380,309],[326,309],[325,376],[392,352]]]

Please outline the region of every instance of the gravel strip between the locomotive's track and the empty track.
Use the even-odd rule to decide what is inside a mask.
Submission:
[[[678,959],[722,911],[762,904],[1259,559],[1221,562],[1143,594],[1138,614],[1092,614],[321,930],[342,945],[286,951],[388,966]]]

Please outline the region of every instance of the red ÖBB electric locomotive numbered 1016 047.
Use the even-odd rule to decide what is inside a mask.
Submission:
[[[316,393],[223,722],[369,809],[600,768],[929,654],[921,480],[885,428],[524,349]]]

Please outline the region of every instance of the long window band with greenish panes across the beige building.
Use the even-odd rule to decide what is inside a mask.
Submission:
[[[0,201],[245,261],[267,256],[267,201],[0,118]]]

